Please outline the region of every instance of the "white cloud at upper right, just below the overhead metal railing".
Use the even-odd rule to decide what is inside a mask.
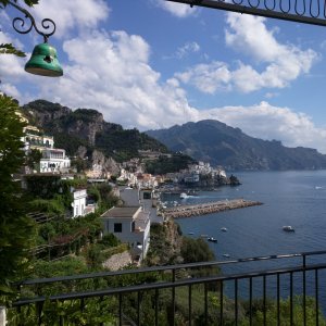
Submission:
[[[235,67],[213,61],[177,73],[177,78],[206,93],[220,90],[248,93],[262,88],[285,88],[300,75],[309,73],[318,57],[311,49],[303,51],[277,42],[274,32],[267,30],[264,25],[264,18],[229,13],[227,23],[229,29],[226,30],[226,43],[248,54],[255,63],[263,64],[263,70],[244,64],[242,57],[242,61],[238,61]]]

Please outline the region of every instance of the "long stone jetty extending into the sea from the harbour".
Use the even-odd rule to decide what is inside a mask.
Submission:
[[[263,203],[259,201],[233,199],[233,200],[221,200],[221,201],[214,201],[208,203],[200,203],[196,205],[174,206],[174,208],[164,209],[162,213],[164,217],[180,218],[180,217],[190,217],[190,216],[223,212],[227,210],[256,206],[262,204]]]

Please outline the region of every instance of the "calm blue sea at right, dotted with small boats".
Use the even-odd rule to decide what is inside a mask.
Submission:
[[[229,174],[228,174],[229,175]],[[214,237],[208,242],[217,261],[268,256],[326,250],[326,171],[235,172],[241,185],[223,186],[214,191],[199,191],[198,196],[180,199],[166,195],[170,203],[196,204],[230,200],[260,201],[263,204],[202,216],[178,218],[183,234],[192,238]],[[289,225],[294,233],[286,233]],[[226,228],[227,231],[222,231]],[[225,255],[228,255],[227,258]],[[326,254],[306,259],[306,263],[325,263]],[[263,260],[260,262],[225,264],[225,275],[249,271],[288,267],[302,263],[302,258]],[[306,273],[306,293],[314,296],[314,274]],[[261,280],[260,280],[261,283]],[[289,296],[289,275],[281,278],[281,297]],[[256,287],[262,289],[262,287]],[[258,289],[256,291],[260,291]],[[248,285],[240,289],[246,297]],[[230,284],[226,291],[234,292]],[[269,297],[276,296],[276,280],[267,279]],[[293,277],[293,293],[302,293],[302,274]],[[319,272],[319,304],[326,312],[326,272]]]

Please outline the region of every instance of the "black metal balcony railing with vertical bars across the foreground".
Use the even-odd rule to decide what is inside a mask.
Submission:
[[[35,312],[35,325],[47,325],[42,324],[43,306],[58,302],[77,302],[80,312],[96,302],[99,315],[113,316],[110,325],[325,325],[325,254],[326,251],[314,251],[30,279],[22,281],[18,287],[22,293],[28,289],[37,296],[22,297],[11,310],[18,314],[24,306],[33,306],[28,313]],[[267,269],[259,269],[262,262]],[[216,266],[223,273],[212,273],[211,269],[209,276],[204,276],[205,273],[198,276],[204,268]],[[226,273],[225,269],[237,273]],[[158,275],[164,277],[154,277]],[[123,277],[134,279],[134,283],[126,283]],[[83,287],[78,287],[78,283],[87,280],[93,281],[93,290],[79,290]],[[99,288],[101,280],[106,280],[104,288]],[[46,288],[54,284],[58,287],[71,284],[71,291],[49,294]],[[168,305],[162,303],[166,298]],[[183,324],[179,322],[181,302]],[[195,312],[193,303],[197,310],[200,306],[200,318],[195,318],[198,311]],[[243,304],[247,308],[244,313]],[[142,311],[145,305],[146,312]],[[75,325],[64,324],[68,319],[70,315],[61,313],[57,323]],[[98,322],[91,325],[106,324]]]

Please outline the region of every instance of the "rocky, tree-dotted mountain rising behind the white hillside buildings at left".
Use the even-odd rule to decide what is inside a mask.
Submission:
[[[95,151],[117,162],[139,156],[138,150],[168,152],[156,139],[136,128],[124,129],[118,124],[105,122],[103,115],[92,109],[73,111],[59,103],[45,100],[33,101],[22,106],[29,123],[45,134],[54,136],[54,145],[68,155],[90,158]]]

